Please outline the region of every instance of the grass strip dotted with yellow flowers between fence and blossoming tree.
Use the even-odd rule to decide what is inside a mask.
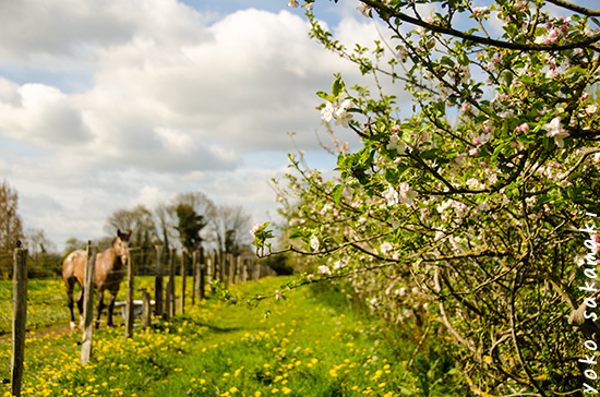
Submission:
[[[272,292],[287,280],[265,278],[232,292]],[[335,287],[301,288],[287,298],[252,310],[208,299],[185,315],[136,328],[129,340],[122,328],[100,329],[87,365],[80,364],[81,333],[36,334],[27,339],[23,395],[468,395],[446,356],[425,346],[413,356],[418,336],[384,337]],[[0,345],[0,371],[10,378],[9,340]]]

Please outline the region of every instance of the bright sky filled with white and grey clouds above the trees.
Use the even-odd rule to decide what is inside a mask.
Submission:
[[[357,4],[315,11],[349,41],[376,38]],[[115,210],[191,191],[268,220],[288,132],[331,169],[314,93],[335,72],[359,79],[308,32],[286,0],[5,3],[0,178],[19,192],[25,230],[60,250],[103,237]]]

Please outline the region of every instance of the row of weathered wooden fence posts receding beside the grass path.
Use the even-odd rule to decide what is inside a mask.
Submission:
[[[132,249],[132,252],[129,254],[129,261],[127,269],[127,304],[125,304],[125,338],[133,336],[133,324],[134,324],[134,301],[133,296],[135,292],[134,289],[134,277],[139,273],[139,267],[136,266],[136,258],[140,255],[135,254],[135,251],[141,251],[141,249]],[[164,253],[167,252],[165,246],[156,245],[151,250],[145,249],[143,255],[141,255],[144,261],[144,265],[147,265],[147,257],[154,256],[154,314],[163,320],[167,320],[170,316],[175,315],[176,312],[176,250],[172,249],[169,251],[169,261],[168,261],[168,280],[167,286],[164,288],[164,276],[165,276],[165,262]],[[94,289],[89,286],[93,285],[94,279],[94,265],[96,258],[97,249],[88,244],[87,248],[87,257],[86,261],[86,272],[85,272],[85,282],[83,290],[84,294],[84,328],[82,332],[82,352],[81,352],[81,362],[86,364],[92,356],[93,350],[93,292]],[[190,263],[191,260],[191,263]],[[191,300],[195,304],[196,301],[201,301],[205,298],[206,291],[205,288],[207,285],[213,286],[215,280],[218,280],[221,286],[230,286],[233,284],[247,282],[248,280],[257,280],[262,277],[275,275],[275,272],[263,265],[260,262],[252,261],[250,257],[233,256],[230,253],[218,253],[218,252],[208,252],[205,253],[202,249],[187,253],[181,253],[179,273],[181,276],[181,290],[179,296],[179,309],[180,313],[184,313],[185,304],[185,278],[188,273],[191,270],[193,276],[192,288],[191,288]],[[144,269],[146,272],[146,269]],[[53,277],[52,277],[53,278]],[[86,287],[87,286],[87,287]],[[60,297],[58,294],[44,294],[48,297],[49,300],[58,300]],[[12,383],[12,394],[13,396],[20,396],[21,394],[21,383],[23,376],[23,357],[24,357],[24,347],[25,347],[25,332],[27,325],[27,250],[17,248],[14,251],[13,255],[13,318],[12,318],[12,334],[13,334],[13,350],[11,358],[11,383]],[[147,327],[151,325],[151,301],[149,292],[144,289],[142,290],[142,326]],[[64,299],[64,294],[62,294]]]

